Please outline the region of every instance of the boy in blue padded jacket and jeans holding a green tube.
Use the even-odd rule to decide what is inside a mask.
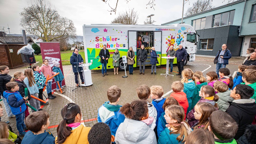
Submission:
[[[26,133],[26,125],[24,123],[25,119],[25,110],[28,97],[21,97],[21,94],[18,92],[19,86],[17,82],[8,82],[6,83],[7,90],[3,92],[3,97],[7,99],[7,102],[11,108],[11,112],[16,117],[16,125],[19,131],[19,136],[24,136]]]

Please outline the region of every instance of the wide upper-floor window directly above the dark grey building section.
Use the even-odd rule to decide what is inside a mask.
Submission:
[[[213,27],[233,25],[235,10],[222,14],[216,14],[213,17]]]

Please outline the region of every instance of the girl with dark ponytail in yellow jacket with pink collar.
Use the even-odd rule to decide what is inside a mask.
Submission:
[[[89,143],[87,136],[91,128],[80,123],[82,114],[77,104],[66,104],[61,110],[61,116],[63,120],[57,127],[56,144]]]

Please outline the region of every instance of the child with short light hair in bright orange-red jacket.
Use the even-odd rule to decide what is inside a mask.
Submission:
[[[186,113],[187,108],[189,107],[189,102],[187,101],[187,95],[183,92],[184,85],[180,81],[175,81],[171,84],[171,89],[173,89],[174,93],[171,93],[170,97],[175,98],[179,102],[179,105],[181,105],[184,108],[186,119]]]

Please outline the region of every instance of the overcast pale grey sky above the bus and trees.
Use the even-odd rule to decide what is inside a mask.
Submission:
[[[154,14],[151,20],[155,20],[155,25],[161,25],[169,21],[181,18],[182,15],[182,0],[155,0],[155,10],[146,6],[149,0],[119,0],[117,14],[112,13],[107,3],[102,0],[49,0],[52,6],[58,11],[62,17],[67,17],[74,22],[77,29],[77,35],[82,34],[82,25],[86,24],[109,24],[119,12],[126,9],[134,8],[139,13],[138,24],[143,24],[143,21],[148,15]],[[190,5],[187,2],[184,6],[184,14],[186,9],[196,0],[190,0]],[[116,0],[108,0],[110,6],[115,6]],[[20,15],[24,7],[31,6],[34,0],[0,0],[0,27],[5,27],[8,31],[9,25],[11,34],[22,34],[21,26],[19,25]],[[215,7],[227,4],[227,0],[213,0]],[[146,9],[147,7],[147,9]],[[0,28],[2,29],[2,28]],[[6,32],[9,34],[9,32]]]

